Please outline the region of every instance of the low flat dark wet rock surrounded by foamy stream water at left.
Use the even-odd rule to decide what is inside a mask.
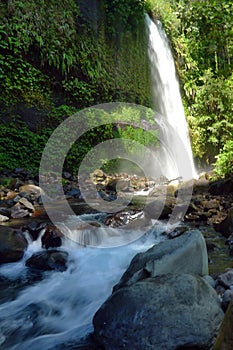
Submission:
[[[42,271],[60,271],[67,269],[68,253],[56,250],[37,252],[26,261],[26,266]]]

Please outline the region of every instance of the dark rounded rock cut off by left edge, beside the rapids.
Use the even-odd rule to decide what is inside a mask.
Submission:
[[[0,226],[0,264],[20,260],[27,246],[22,232]]]

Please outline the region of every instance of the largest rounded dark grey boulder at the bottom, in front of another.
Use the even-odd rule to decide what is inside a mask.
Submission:
[[[204,279],[167,274],[119,289],[93,323],[105,350],[209,349],[222,319],[219,298]]]

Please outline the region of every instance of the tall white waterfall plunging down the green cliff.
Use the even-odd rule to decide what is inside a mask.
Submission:
[[[159,21],[146,15],[148,56],[151,66],[152,101],[159,113],[161,129],[160,164],[168,179],[196,177],[187,122],[182,104],[175,64],[168,38]]]

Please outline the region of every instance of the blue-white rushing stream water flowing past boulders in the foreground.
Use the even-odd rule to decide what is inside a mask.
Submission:
[[[133,256],[157,244],[162,231],[157,223],[137,241],[116,248],[84,248],[68,240],[60,248],[69,253],[65,272],[44,273],[42,280],[0,305],[0,349],[55,349],[90,333],[93,315]],[[13,283],[27,271],[26,258],[40,250],[39,240],[31,243],[24,259],[2,265],[0,275]]]

